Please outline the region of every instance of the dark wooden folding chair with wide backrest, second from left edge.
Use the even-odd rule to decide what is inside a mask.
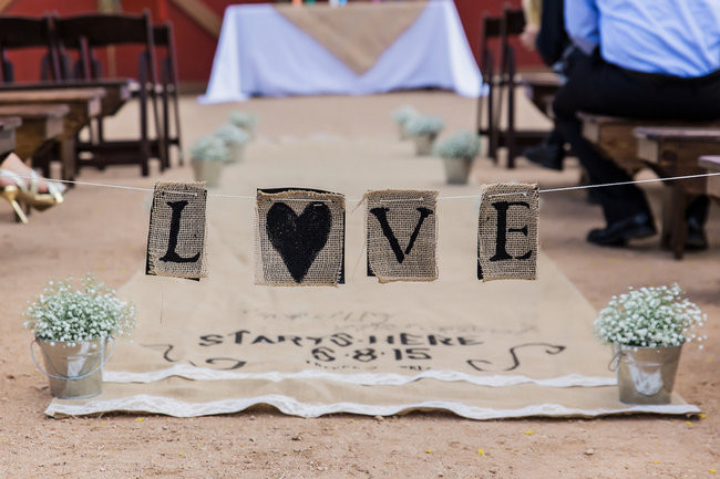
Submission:
[[[155,42],[148,10],[141,15],[132,14],[82,14],[54,20],[60,54],[68,49],[79,51],[80,60],[75,74],[81,80],[100,80],[103,73],[96,50],[109,46],[141,45],[138,56],[137,88],[133,92],[140,101],[140,138],[107,140],[104,138],[102,118],[97,122],[95,142],[79,142],[78,153],[88,153],[91,159],[79,159],[78,166],[105,167],[106,165],[141,166],[143,176],[150,174],[150,158],[161,160],[161,169],[168,166],[163,125],[157,106],[158,77],[155,59]],[[152,103],[155,136],[148,128],[148,103]]]

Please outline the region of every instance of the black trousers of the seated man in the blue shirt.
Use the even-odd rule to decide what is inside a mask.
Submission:
[[[575,55],[567,83],[557,92],[553,110],[557,126],[594,185],[629,181],[629,175],[600,155],[583,137],[578,112],[639,119],[710,121],[720,118],[720,72],[696,79],[631,72],[605,62],[598,53]],[[598,188],[608,223],[637,214],[650,215],[635,185]],[[700,197],[688,215],[707,219],[709,200]]]

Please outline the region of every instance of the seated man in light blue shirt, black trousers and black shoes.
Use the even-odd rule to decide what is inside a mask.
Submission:
[[[577,112],[641,119],[720,118],[720,1],[573,0],[565,3],[576,55],[553,110],[563,136],[593,184],[630,181],[582,134]],[[655,235],[652,215],[635,185],[598,188],[607,227],[587,240],[623,246]],[[688,210],[688,249],[707,248],[708,198]]]

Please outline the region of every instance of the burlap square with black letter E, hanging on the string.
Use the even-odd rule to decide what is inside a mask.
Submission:
[[[477,229],[477,279],[537,278],[537,185],[484,185]]]

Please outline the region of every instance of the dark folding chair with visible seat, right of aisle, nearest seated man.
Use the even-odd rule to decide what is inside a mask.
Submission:
[[[512,9],[508,6],[503,8],[503,20],[501,24],[501,48],[500,48],[500,81],[497,92],[497,108],[495,110],[493,123],[494,138],[491,144],[495,148],[505,146],[507,148],[507,168],[515,167],[515,158],[521,155],[523,147],[535,145],[548,134],[545,129],[516,129],[515,127],[515,87],[518,86],[516,77],[517,66],[515,62],[515,48],[510,43],[512,38],[520,37],[525,29],[525,13],[522,9]],[[502,118],[503,97],[507,95],[507,118],[506,127],[500,127]],[[494,150],[493,153],[496,153]]]

